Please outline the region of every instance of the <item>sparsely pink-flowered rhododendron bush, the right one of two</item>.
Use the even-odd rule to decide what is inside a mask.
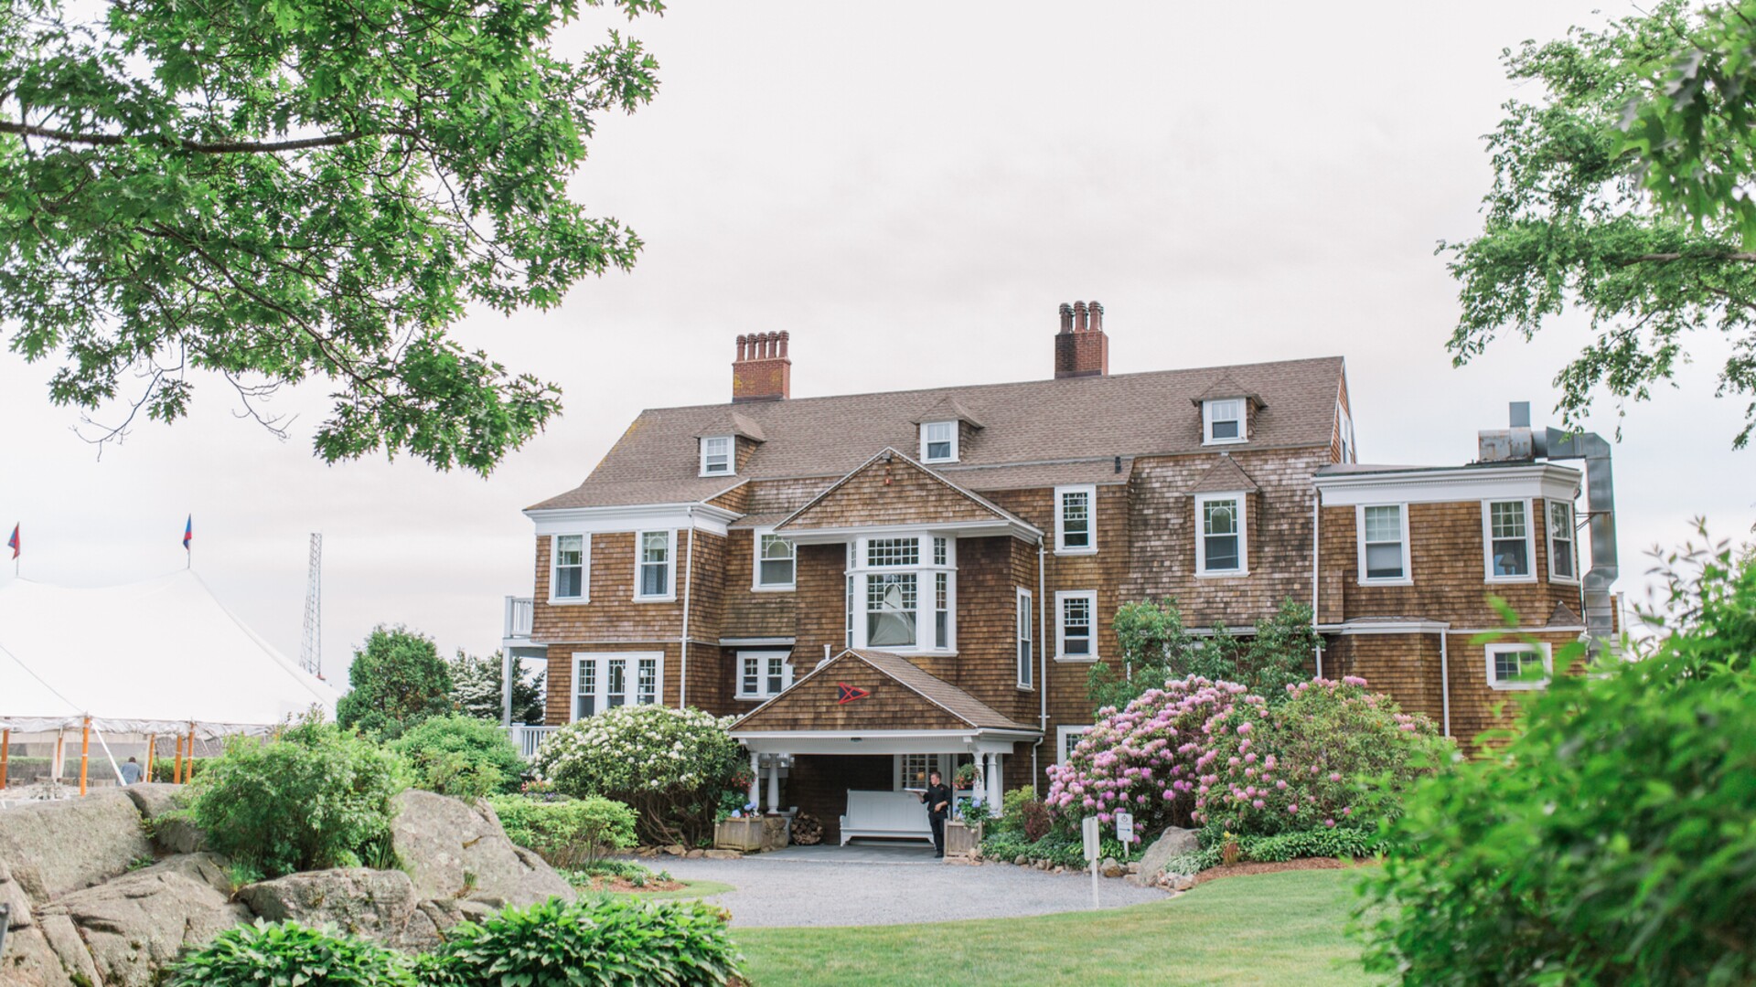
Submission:
[[[1287,687],[1278,706],[1234,704],[1208,722],[1196,820],[1234,834],[1377,829],[1421,774],[1450,760],[1433,722],[1403,713],[1366,680]]]

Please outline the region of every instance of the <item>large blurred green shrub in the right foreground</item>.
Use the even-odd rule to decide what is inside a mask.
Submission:
[[[1695,551],[1666,578],[1642,660],[1522,694],[1501,750],[1414,790],[1361,906],[1373,969],[1756,982],[1756,567]]]

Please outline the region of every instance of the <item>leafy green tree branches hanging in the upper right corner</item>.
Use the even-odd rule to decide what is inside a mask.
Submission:
[[[1482,234],[1440,244],[1461,283],[1459,365],[1568,304],[1589,313],[1594,339],[1554,381],[1575,427],[1598,388],[1623,411],[1647,399],[1703,328],[1733,344],[1717,393],[1756,395],[1756,5],[1649,11],[1507,54],[1533,97],[1487,135]],[[1756,400],[1733,446],[1752,430]]]

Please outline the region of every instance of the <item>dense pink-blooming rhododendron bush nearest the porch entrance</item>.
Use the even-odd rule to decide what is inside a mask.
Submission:
[[[1227,715],[1261,718],[1264,710],[1245,687],[1199,676],[1150,688],[1122,711],[1106,706],[1068,762],[1048,767],[1045,803],[1075,824],[1089,815],[1108,824],[1127,810],[1138,834],[1189,825],[1199,778],[1212,773],[1210,724]]]

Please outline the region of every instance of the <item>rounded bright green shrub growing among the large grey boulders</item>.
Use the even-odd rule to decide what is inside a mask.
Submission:
[[[330,724],[304,722],[270,743],[239,738],[195,776],[188,815],[207,845],[274,878],[360,866],[388,843],[402,762]]]

